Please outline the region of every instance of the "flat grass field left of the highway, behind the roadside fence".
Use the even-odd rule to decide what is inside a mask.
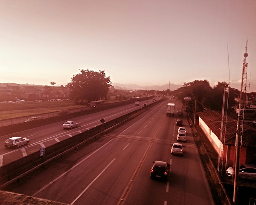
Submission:
[[[81,108],[72,101],[43,101],[43,102],[24,102],[24,103],[1,103],[0,119],[36,115],[46,112]]]

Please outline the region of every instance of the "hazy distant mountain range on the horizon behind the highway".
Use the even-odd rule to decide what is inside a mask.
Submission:
[[[181,87],[181,85],[174,85],[174,84],[166,84],[166,85],[162,85],[162,86],[139,86],[137,84],[120,84],[120,83],[112,83],[112,86],[115,89],[119,89],[119,90],[177,90],[178,88]]]

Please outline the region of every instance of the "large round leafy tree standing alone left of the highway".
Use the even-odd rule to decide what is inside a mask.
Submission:
[[[70,98],[76,104],[85,104],[93,100],[107,99],[108,90],[112,85],[105,71],[87,69],[73,75],[67,86],[70,88]]]

